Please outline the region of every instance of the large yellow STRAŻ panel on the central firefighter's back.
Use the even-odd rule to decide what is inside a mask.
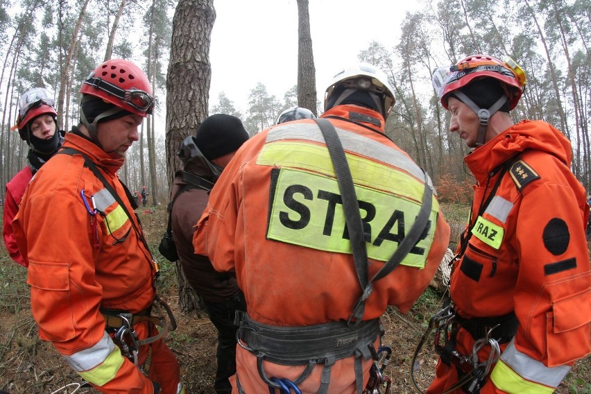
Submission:
[[[351,254],[343,203],[336,180],[295,169],[275,170],[267,238],[328,252]],[[277,175],[278,172],[278,175]],[[355,185],[368,257],[387,261],[416,221],[420,203]],[[433,241],[438,206],[420,241],[401,264],[423,268]]]

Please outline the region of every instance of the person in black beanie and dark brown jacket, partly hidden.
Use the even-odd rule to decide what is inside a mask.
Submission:
[[[182,142],[178,156],[184,164],[175,174],[172,195],[173,239],[191,287],[200,295],[205,311],[218,330],[217,371],[214,388],[218,394],[230,394],[229,378],[236,372],[236,311],[246,311],[236,273],[218,272],[193,247],[194,225],[207,207],[209,191],[234,153],[248,139],[240,119],[214,114],[203,121],[195,137]]]

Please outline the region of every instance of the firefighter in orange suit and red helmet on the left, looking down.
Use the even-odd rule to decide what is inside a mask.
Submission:
[[[157,268],[117,175],[153,110],[150,83],[112,59],[80,93],[80,125],[35,174],[13,222],[39,335],[102,393],[183,393],[162,339]]]

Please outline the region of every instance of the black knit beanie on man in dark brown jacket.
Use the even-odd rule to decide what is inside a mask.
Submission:
[[[227,114],[214,114],[197,129],[195,144],[209,161],[237,151],[248,139],[242,122]]]

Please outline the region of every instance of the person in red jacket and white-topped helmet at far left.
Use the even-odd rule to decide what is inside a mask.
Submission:
[[[58,130],[58,112],[55,112],[53,104],[53,94],[49,90],[42,87],[29,89],[19,99],[17,124],[11,128],[18,128],[21,139],[28,145],[29,164],[6,184],[3,235],[10,258],[25,267],[28,262],[23,259],[17,247],[15,234],[12,232],[12,219],[19,210],[28,182],[64,141],[65,132]]]

